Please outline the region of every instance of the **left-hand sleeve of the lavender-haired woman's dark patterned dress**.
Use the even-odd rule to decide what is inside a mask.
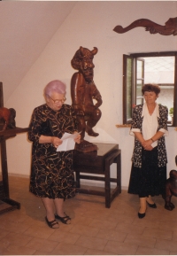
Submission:
[[[36,109],[32,114],[32,118],[29,124],[29,131],[28,131],[28,139],[33,143],[39,143],[39,137],[42,135],[40,133],[42,125],[42,120],[40,116],[37,114]]]

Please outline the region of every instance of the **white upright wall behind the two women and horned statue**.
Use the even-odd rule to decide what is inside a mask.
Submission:
[[[112,29],[127,27],[135,19],[151,19],[165,25],[169,18],[177,16],[177,2],[78,2],[73,12],[65,19],[58,32],[35,61],[18,89],[6,103],[17,112],[16,122],[20,128],[29,124],[35,106],[44,103],[42,89],[47,82],[60,79],[67,84],[67,104],[71,104],[70,80],[75,72],[70,65],[73,54],[80,46],[92,50],[98,48],[94,58],[95,82],[103,97],[102,118],[96,125],[100,136],[90,142],[119,144],[122,151],[122,186],[128,186],[134,137],[129,128],[116,128],[122,123],[122,55],[135,52],[177,50],[177,36],[150,35],[144,27],[137,27],[125,34]],[[177,132],[169,128],[166,137],[168,172],[175,167]],[[27,134],[20,134],[7,141],[8,167],[10,174],[30,174],[31,143]],[[115,175],[115,166],[112,165]]]

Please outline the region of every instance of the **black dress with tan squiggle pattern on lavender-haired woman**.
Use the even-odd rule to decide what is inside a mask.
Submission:
[[[40,136],[57,136],[77,131],[76,117],[70,105],[58,112],[48,105],[36,107],[29,125],[33,142],[29,190],[40,198],[73,198],[73,151],[57,151],[53,144],[39,144]]]

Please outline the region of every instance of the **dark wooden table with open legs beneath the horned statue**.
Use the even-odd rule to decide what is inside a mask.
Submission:
[[[112,200],[121,193],[121,151],[118,144],[96,144],[98,150],[88,153],[73,151],[73,170],[76,174],[76,188],[78,192],[104,196],[105,207],[110,208]],[[117,164],[117,177],[110,177],[110,166]],[[81,175],[89,173],[90,175]],[[93,174],[93,175],[91,175]],[[95,176],[97,175],[104,175]],[[81,189],[80,179],[103,181],[104,191]],[[111,192],[111,182],[116,188]]]

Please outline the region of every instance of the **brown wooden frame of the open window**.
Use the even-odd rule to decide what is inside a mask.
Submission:
[[[172,127],[177,127],[177,51],[159,51],[159,52],[142,52],[142,53],[132,53],[129,55],[123,54],[123,124],[131,123],[131,118],[127,119],[127,59],[132,61],[131,67],[131,101],[133,102],[133,95],[135,93],[135,83],[136,83],[136,73],[135,73],[135,62],[136,58],[144,57],[174,57],[174,92],[173,92],[173,123]],[[133,110],[133,105],[132,105]],[[131,112],[132,113],[132,112]]]

